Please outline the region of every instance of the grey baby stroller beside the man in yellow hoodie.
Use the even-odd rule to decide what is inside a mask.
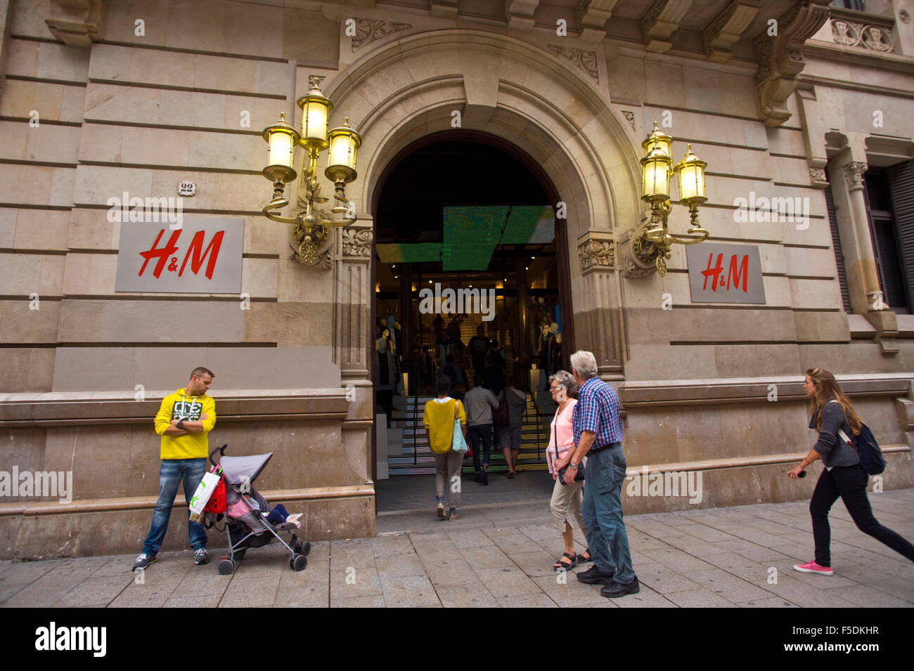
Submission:
[[[311,552],[311,543],[299,540],[293,531],[298,529],[298,525],[292,522],[271,524],[266,518],[271,511],[270,504],[251,486],[270,462],[273,453],[225,456],[226,447],[228,445],[218,447],[209,454],[209,462],[213,467],[222,467],[222,476],[226,482],[225,529],[228,535],[228,556],[219,561],[219,574],[229,575],[235,571],[238,562],[250,548],[261,548],[271,543],[274,538],[289,550],[289,567],[293,571],[303,571],[308,565],[307,556]],[[218,464],[213,460],[213,455],[217,452]],[[209,517],[212,515],[213,513],[207,513],[208,521],[218,521],[222,517],[219,513],[213,520]],[[278,532],[282,531],[289,533],[289,542],[280,537]]]

